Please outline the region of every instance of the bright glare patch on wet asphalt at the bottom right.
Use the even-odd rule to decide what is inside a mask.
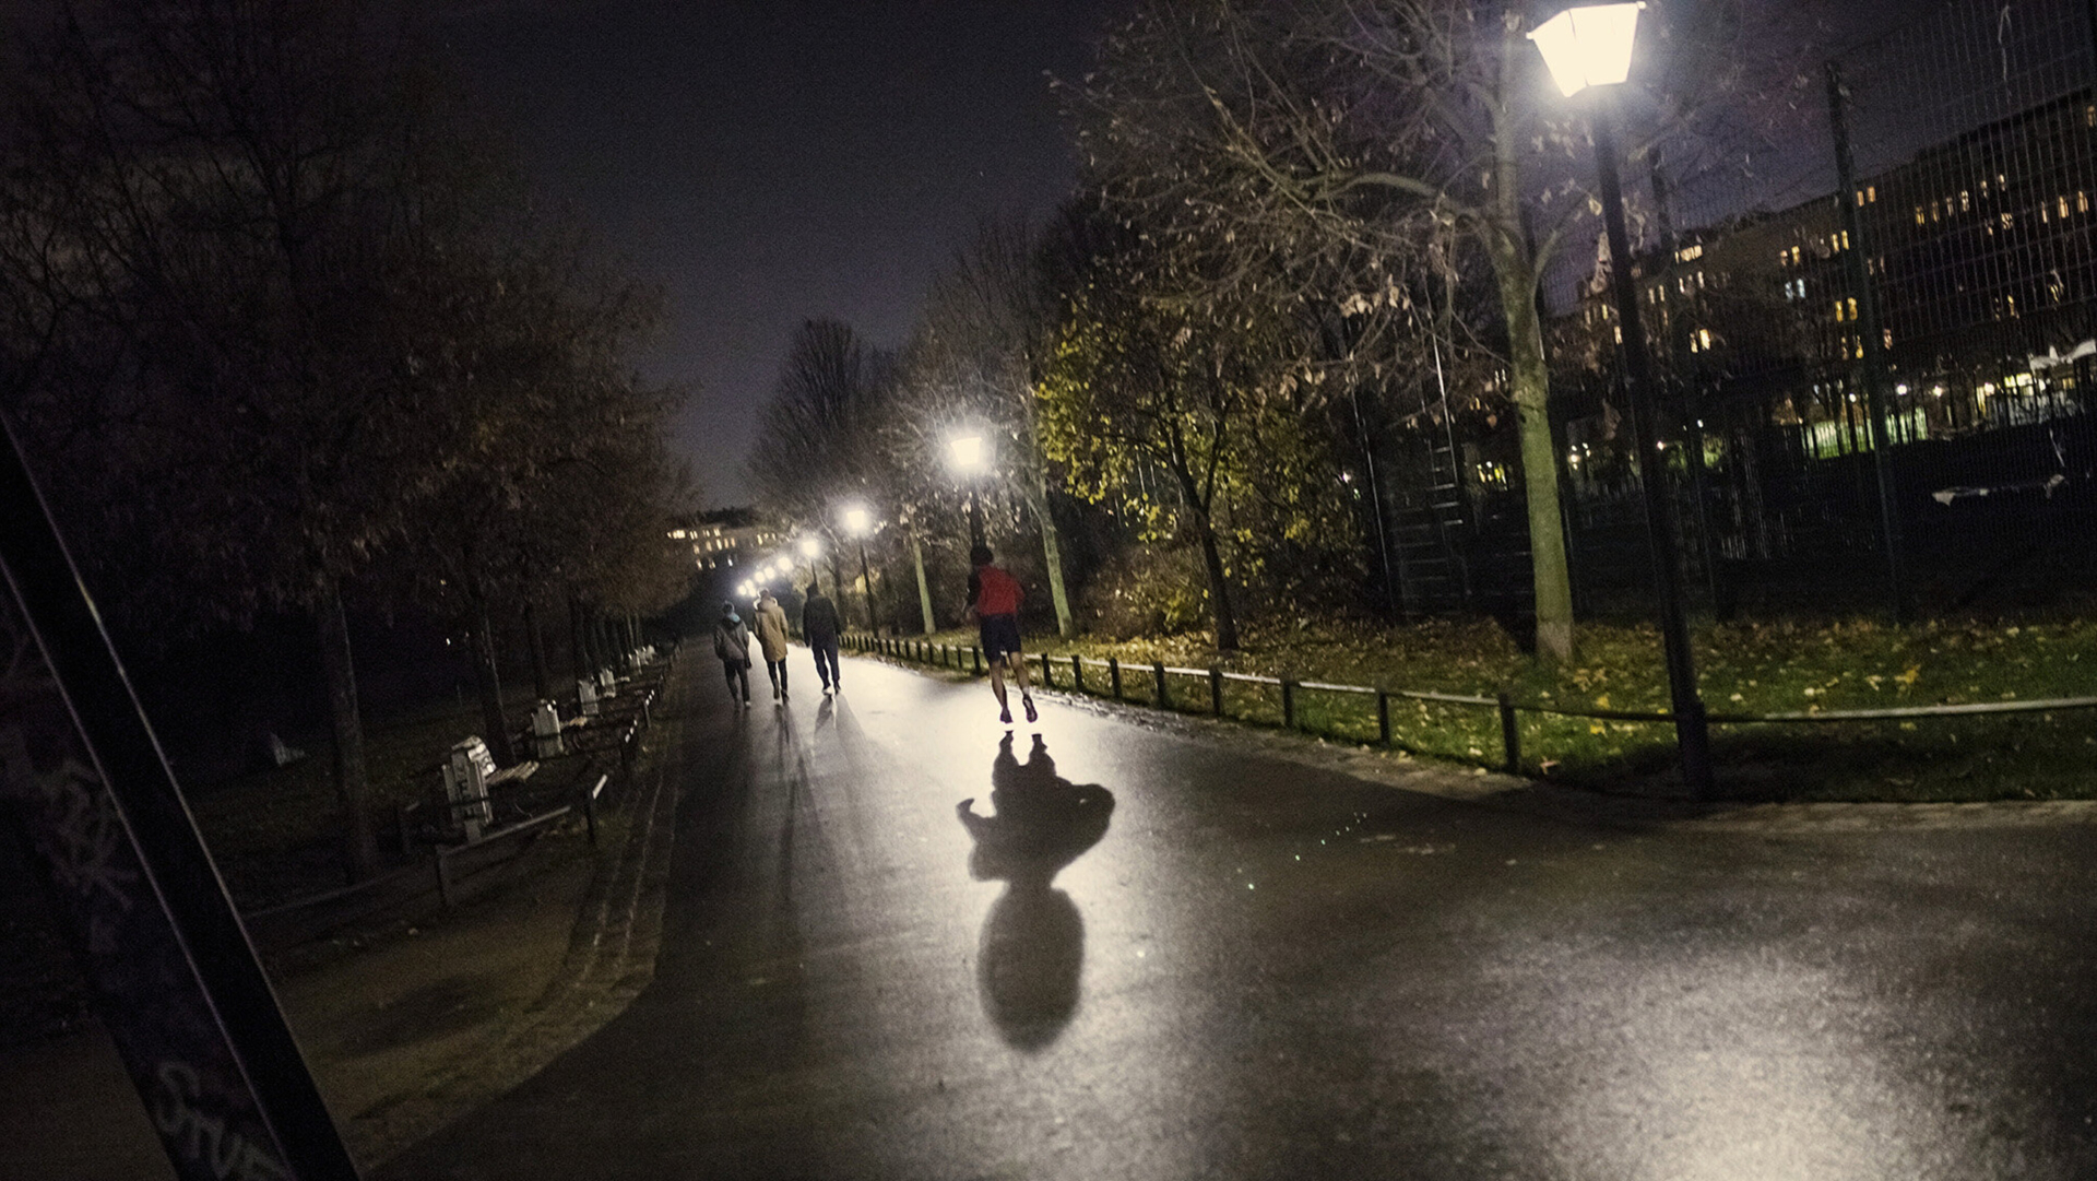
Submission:
[[[1470,1061],[1443,1066],[1485,1074],[1491,1105],[1535,1114],[1508,1139],[1537,1177],[1965,1175],[1933,1160],[1938,1085],[1891,1061],[1887,1030],[1858,1024],[1883,1001],[1866,1005],[1829,971],[1753,950],[1669,965],[1531,959],[1508,971],[1510,1011],[1489,1036],[1470,1030]],[[1541,1003],[1539,982],[1550,982]]]

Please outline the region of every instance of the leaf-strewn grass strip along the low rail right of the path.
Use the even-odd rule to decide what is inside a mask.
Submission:
[[[939,642],[973,644],[971,631]],[[1850,623],[1741,623],[1694,636],[1696,671],[1711,713],[1797,713],[2040,701],[2097,694],[2097,625],[2087,621],[1933,621],[1887,627]],[[1241,652],[1216,659],[1202,638],[1061,642],[1030,638],[1063,657],[1055,684],[1069,688],[1072,652],[1118,657],[1130,701],[1151,701],[1151,661],[1183,667],[1453,694],[1508,692],[1516,705],[1665,711],[1667,673],[1652,627],[1585,625],[1579,661],[1545,669],[1493,623],[1428,621],[1403,627],[1319,623],[1262,627]],[[1130,667],[1134,665],[1134,667]],[[1105,678],[1086,669],[1086,688]],[[1174,707],[1208,711],[1208,686],[1172,678]],[[1279,726],[1275,686],[1229,684],[1225,709]],[[1376,740],[1376,699],[1298,690],[1300,728]],[[1395,745],[1432,757],[1499,766],[1493,709],[1390,703]],[[1522,770],[1552,780],[1655,791],[1673,757],[1673,726],[1520,713]],[[1753,799],[2063,799],[2097,797],[2097,711],[1912,722],[1713,726],[1720,791]]]

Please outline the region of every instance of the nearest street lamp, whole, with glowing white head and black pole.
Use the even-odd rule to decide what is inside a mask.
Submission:
[[[1659,388],[1652,380],[1652,357],[1646,352],[1646,329],[1638,315],[1638,292],[1631,283],[1631,235],[1623,227],[1623,185],[1617,180],[1617,120],[1608,90],[1631,76],[1631,42],[1638,36],[1638,10],[1644,4],[1592,4],[1566,8],[1529,40],[1543,52],[1543,65],[1566,99],[1598,88],[1590,111],[1594,124],[1594,164],[1602,185],[1602,222],[1608,231],[1610,296],[1623,329],[1623,371],[1631,386],[1631,436],[1638,443],[1640,485],[1646,493],[1646,533],[1652,539],[1652,581],[1661,604],[1661,640],[1667,648],[1667,690],[1676,715],[1676,749],[1682,755],[1682,778],[1696,797],[1711,793],[1711,730],[1703,699],[1696,694],[1696,665],[1690,654],[1690,634],[1682,619],[1682,568],[1676,558],[1676,506],[1667,495],[1667,468],[1659,453]]]

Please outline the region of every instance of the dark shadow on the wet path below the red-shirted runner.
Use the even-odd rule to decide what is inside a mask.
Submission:
[[[1078,1011],[1084,967],[1084,919],[1051,883],[1107,835],[1114,793],[1059,778],[1040,734],[1021,764],[1007,734],[990,766],[990,808],[977,816],[973,797],[956,806],[975,837],[969,877],[1007,883],[983,921],[975,984],[1004,1043],[1034,1051]]]

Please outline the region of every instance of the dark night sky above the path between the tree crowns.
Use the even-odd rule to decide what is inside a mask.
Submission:
[[[682,438],[713,503],[788,334],[900,344],[986,214],[1074,185],[1044,71],[1082,76],[1118,0],[472,4],[445,40],[539,191],[669,292],[644,359],[698,394]]]

